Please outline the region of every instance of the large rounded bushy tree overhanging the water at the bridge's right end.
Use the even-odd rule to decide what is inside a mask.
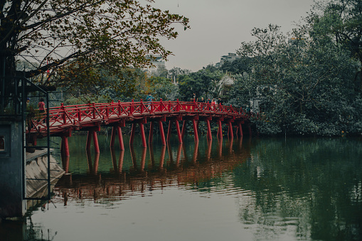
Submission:
[[[326,38],[314,38],[310,25],[283,35],[277,26],[255,28],[256,41],[242,43],[238,53],[252,58],[252,71],[240,77],[231,95],[265,102],[260,132],[333,136],[358,132],[361,97],[353,91],[356,62],[348,51]],[[288,41],[287,41],[288,40]]]

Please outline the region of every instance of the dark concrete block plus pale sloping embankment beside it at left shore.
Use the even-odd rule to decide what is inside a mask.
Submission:
[[[26,152],[23,135],[21,121],[0,121],[0,220],[23,217],[34,205],[26,198],[41,198],[48,193],[48,150]],[[63,168],[52,156],[49,169],[50,183],[63,176]]]

